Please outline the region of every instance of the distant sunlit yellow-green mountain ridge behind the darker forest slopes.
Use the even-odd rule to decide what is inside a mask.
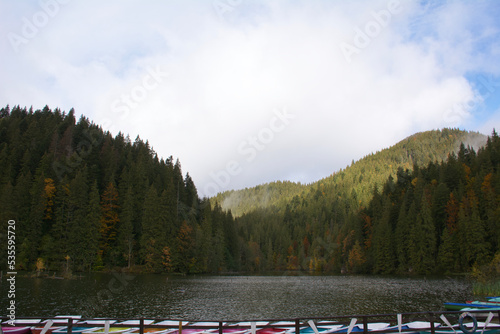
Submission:
[[[398,168],[412,170],[414,165],[426,166],[441,162],[451,153],[457,153],[461,143],[478,149],[486,143],[486,136],[478,132],[442,129],[416,133],[382,151],[370,154],[350,166],[309,185],[271,182],[243,190],[230,190],[217,194],[212,203],[220,203],[240,217],[256,209],[275,207],[284,210],[295,196],[307,197],[318,189],[328,189],[341,196],[354,196],[361,204],[370,200],[373,187],[381,186]]]

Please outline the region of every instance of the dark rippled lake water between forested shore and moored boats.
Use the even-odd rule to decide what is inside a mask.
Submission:
[[[9,299],[5,276],[0,314]],[[86,274],[16,277],[16,315],[246,320],[442,310],[472,298],[460,278]]]

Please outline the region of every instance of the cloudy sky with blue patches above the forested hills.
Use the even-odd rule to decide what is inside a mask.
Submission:
[[[0,106],[179,159],[200,196],[500,124],[500,1],[0,0]]]

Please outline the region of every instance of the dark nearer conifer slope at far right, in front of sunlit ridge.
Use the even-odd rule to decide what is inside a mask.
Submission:
[[[362,233],[354,242],[363,247],[355,266],[432,273],[489,263],[500,245],[499,167],[493,132],[477,154],[462,145],[446,163],[400,170],[361,212]]]

